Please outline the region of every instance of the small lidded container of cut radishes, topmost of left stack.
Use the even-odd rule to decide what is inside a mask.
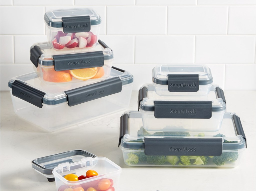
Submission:
[[[56,50],[90,48],[98,42],[101,17],[91,8],[47,11],[48,42]]]

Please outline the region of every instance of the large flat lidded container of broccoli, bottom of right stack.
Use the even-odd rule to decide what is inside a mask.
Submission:
[[[235,113],[224,114],[217,132],[154,132],[143,128],[138,111],[120,118],[119,146],[126,165],[161,167],[235,167],[247,147]]]

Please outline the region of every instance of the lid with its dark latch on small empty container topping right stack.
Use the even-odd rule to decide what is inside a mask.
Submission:
[[[184,79],[187,81],[184,81]],[[191,84],[199,82],[199,85],[207,85],[212,83],[212,75],[211,70],[202,65],[160,65],[153,68],[152,80],[159,85],[183,84],[185,82]],[[192,89],[196,88],[187,88],[187,90],[182,91],[196,91]]]

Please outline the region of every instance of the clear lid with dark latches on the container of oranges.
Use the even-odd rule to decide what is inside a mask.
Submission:
[[[35,65],[54,66],[56,71],[85,68],[80,64],[83,59],[90,59],[87,68],[100,67],[104,60],[114,58],[113,51],[101,40],[93,48],[55,50],[49,42],[36,43],[30,47],[30,61]],[[68,64],[68,62],[78,64]],[[66,63],[66,64],[65,64]],[[65,65],[65,68],[63,68]],[[70,68],[66,68],[70,67]],[[74,68],[77,67],[77,68]]]

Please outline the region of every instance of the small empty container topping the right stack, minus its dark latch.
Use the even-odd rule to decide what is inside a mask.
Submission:
[[[198,74],[199,90],[197,92],[169,92],[168,74]],[[208,67],[203,65],[160,65],[152,70],[153,85],[159,95],[178,95],[178,96],[201,96],[210,91],[212,85],[212,75]]]

